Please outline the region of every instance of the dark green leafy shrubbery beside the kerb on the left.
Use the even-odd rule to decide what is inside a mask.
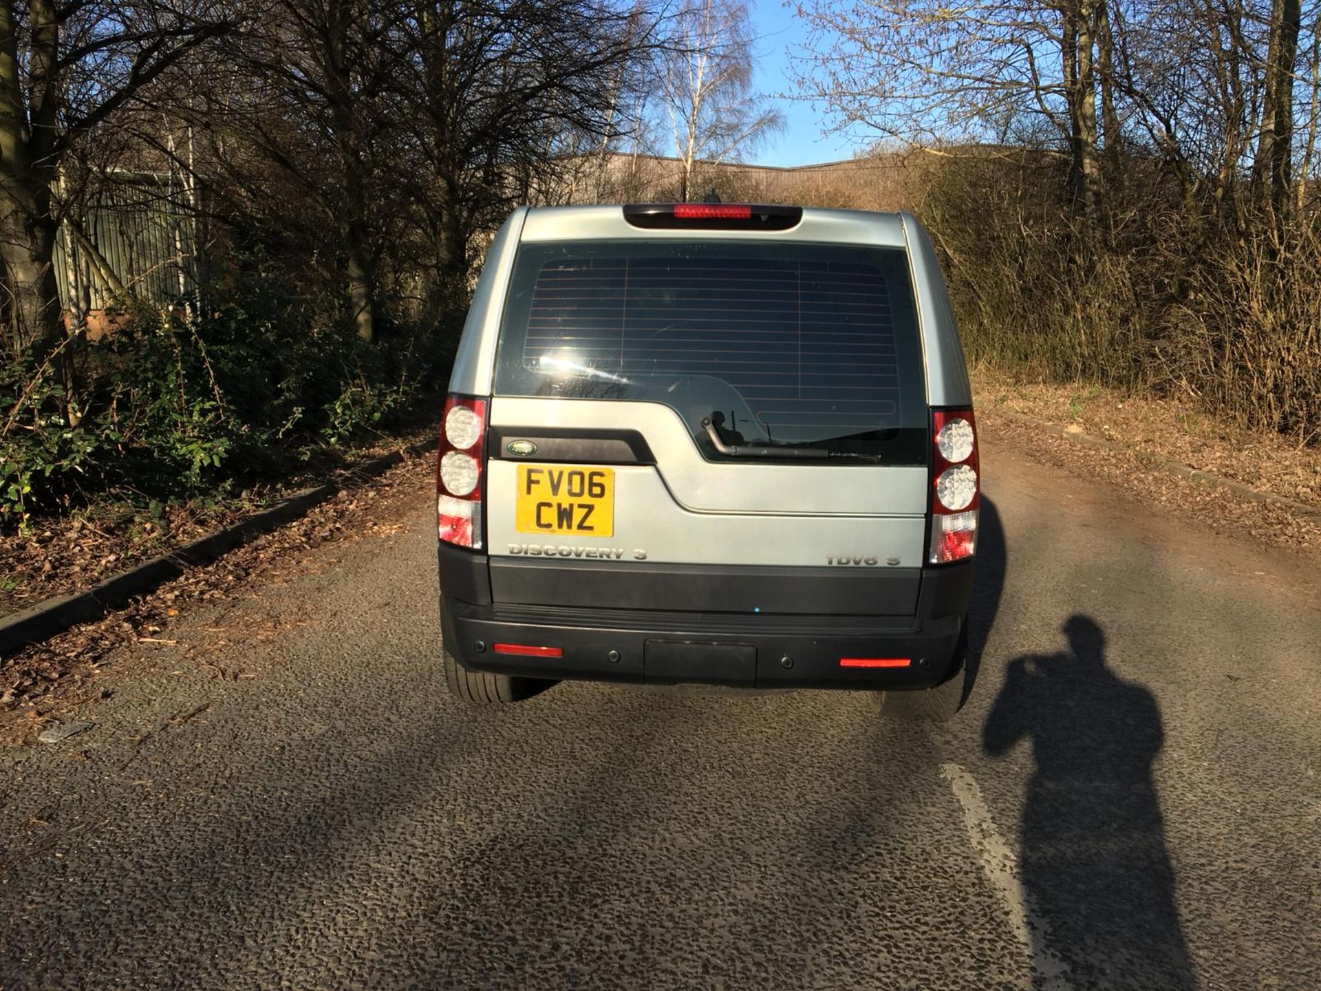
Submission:
[[[128,305],[98,342],[74,334],[44,361],[4,363],[5,529],[104,493],[214,497],[287,472],[316,445],[384,425],[441,359],[416,328],[386,325],[367,344],[276,281],[230,281],[199,314]]]

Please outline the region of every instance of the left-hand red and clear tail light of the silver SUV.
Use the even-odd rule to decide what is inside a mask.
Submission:
[[[436,527],[445,543],[481,550],[485,472],[486,400],[452,395],[436,457]]]

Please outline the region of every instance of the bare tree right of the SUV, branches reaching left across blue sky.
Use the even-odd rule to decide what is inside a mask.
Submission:
[[[1044,126],[1067,149],[1074,202],[1095,222],[1102,147],[1120,131],[1107,1],[980,0],[955,15],[939,0],[803,0],[799,85],[840,126],[905,144],[996,143]]]

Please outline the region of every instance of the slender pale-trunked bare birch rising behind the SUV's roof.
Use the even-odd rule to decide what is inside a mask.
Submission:
[[[660,102],[679,159],[679,198],[699,164],[754,149],[785,124],[752,89],[752,36],[741,0],[684,0],[660,57]]]

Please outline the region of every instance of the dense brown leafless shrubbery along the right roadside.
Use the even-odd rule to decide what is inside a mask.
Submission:
[[[1181,395],[1246,427],[1321,436],[1321,218],[1283,233],[1184,198],[1129,163],[1103,237],[1044,156],[952,159],[914,207],[946,256],[974,361]],[[1151,174],[1143,174],[1149,170]]]

